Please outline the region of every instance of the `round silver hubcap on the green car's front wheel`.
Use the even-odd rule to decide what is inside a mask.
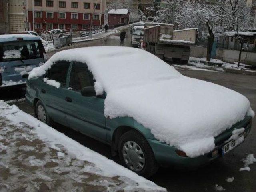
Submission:
[[[145,156],[141,147],[134,141],[127,141],[123,146],[123,157],[127,166],[136,172],[145,166]]]

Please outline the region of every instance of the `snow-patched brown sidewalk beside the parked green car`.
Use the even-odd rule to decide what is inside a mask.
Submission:
[[[0,191],[166,191],[0,101]]]

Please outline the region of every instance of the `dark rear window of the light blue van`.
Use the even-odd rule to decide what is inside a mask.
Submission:
[[[44,57],[40,41],[14,41],[0,44],[0,62],[27,60]]]

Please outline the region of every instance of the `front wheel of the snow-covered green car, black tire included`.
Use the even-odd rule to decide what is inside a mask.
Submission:
[[[128,147],[128,145],[131,143],[133,143],[132,147],[134,147],[134,149]],[[129,148],[128,150],[130,150],[128,152],[126,150],[127,147]],[[140,154],[136,153],[135,149],[137,149],[137,151],[140,152]],[[119,158],[125,167],[136,172],[141,176],[144,176],[145,178],[152,176],[158,170],[158,164],[155,160],[152,148],[150,147],[150,145],[148,144],[144,136],[142,136],[136,130],[130,130],[128,132],[125,132],[120,137],[120,140],[118,142],[118,153],[119,153]],[[126,154],[126,155],[123,155],[123,154]],[[142,166],[139,166],[139,165],[135,166],[136,163],[134,164],[134,162],[136,162],[137,159],[138,159],[138,162],[141,161],[143,159],[142,158],[143,156],[144,156],[144,163],[143,164],[141,162],[138,163],[140,165],[143,165],[143,168]],[[132,161],[131,159],[134,161]],[[131,166],[128,164],[130,164]],[[131,168],[132,166],[134,168]],[[136,167],[138,167],[138,169]]]

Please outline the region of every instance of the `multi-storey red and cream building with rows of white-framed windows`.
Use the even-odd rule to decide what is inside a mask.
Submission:
[[[27,0],[30,30],[86,30],[104,24],[106,0]]]

